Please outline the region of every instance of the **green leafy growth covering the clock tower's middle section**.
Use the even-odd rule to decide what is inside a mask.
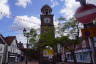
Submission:
[[[46,28],[47,31],[43,32],[42,34],[40,34],[40,46],[44,47],[44,46],[53,46],[55,37],[52,36],[53,32],[48,28]]]

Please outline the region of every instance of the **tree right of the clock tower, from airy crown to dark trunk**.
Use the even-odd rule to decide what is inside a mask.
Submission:
[[[61,36],[64,35],[64,33],[66,33],[66,35],[71,37],[69,41],[65,42],[64,48],[71,52],[73,60],[74,60],[74,64],[76,64],[77,60],[76,60],[74,51],[75,51],[76,45],[80,43],[80,40],[78,39],[79,30],[80,30],[79,23],[74,18],[71,18],[67,22],[64,22],[63,24],[59,23],[59,27],[60,27],[59,34],[61,34]],[[75,38],[73,39],[73,37]]]

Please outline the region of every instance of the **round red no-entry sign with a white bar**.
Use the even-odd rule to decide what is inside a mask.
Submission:
[[[93,4],[80,6],[75,13],[75,18],[83,24],[92,23],[96,18],[96,6]]]

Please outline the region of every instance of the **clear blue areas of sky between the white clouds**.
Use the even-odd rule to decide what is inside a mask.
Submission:
[[[0,0],[1,1],[1,0]],[[10,8],[9,13],[11,14],[11,16],[34,16],[39,18],[40,16],[40,9],[43,5],[48,4],[48,5],[53,5],[53,3],[50,0],[25,0],[26,1],[26,5],[24,5],[24,3],[22,3],[20,5],[19,0],[5,0],[7,1],[6,4],[7,6]],[[30,1],[29,3],[27,3],[27,1]],[[56,2],[61,2],[61,1],[56,1]],[[17,4],[16,4],[17,3]],[[61,2],[62,6],[63,6],[64,2]],[[57,7],[55,7],[57,6]],[[62,8],[62,6],[60,6],[59,4],[56,4],[53,7],[53,13],[55,16],[60,16],[59,14],[59,9]],[[6,12],[3,12],[6,13]],[[8,13],[8,12],[7,12]],[[0,19],[0,32],[5,35],[12,35],[12,31],[10,29],[11,25],[15,22],[14,21],[15,18],[8,18],[6,16],[3,16],[2,19]],[[9,34],[10,33],[10,34]]]

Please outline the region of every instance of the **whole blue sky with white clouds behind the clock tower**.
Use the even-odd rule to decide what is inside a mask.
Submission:
[[[96,4],[96,0],[87,0]],[[40,28],[41,8],[48,4],[53,9],[54,24],[57,18],[71,18],[80,6],[75,0],[0,0],[0,34],[16,36],[18,41],[26,43],[23,29]]]

